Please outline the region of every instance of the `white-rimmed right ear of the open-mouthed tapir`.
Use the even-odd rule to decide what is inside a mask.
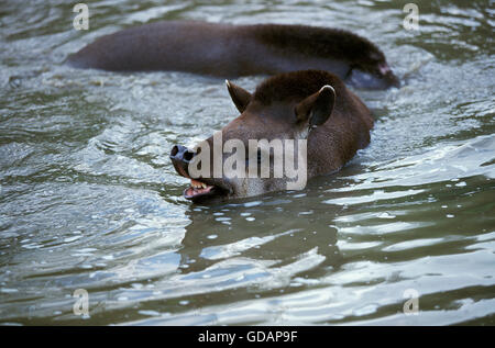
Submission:
[[[322,125],[330,117],[336,104],[336,90],[323,86],[318,92],[309,96],[296,105],[298,122],[308,122],[309,127]]]

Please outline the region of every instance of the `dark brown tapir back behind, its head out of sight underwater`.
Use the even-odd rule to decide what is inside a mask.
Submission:
[[[156,22],[102,36],[67,61],[78,68],[223,78],[321,69],[358,88],[399,85],[385,55],[366,38],[306,25]]]

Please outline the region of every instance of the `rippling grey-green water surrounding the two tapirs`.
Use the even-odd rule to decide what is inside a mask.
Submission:
[[[0,322],[495,324],[494,3],[418,1],[406,31],[406,2],[92,1],[88,32],[66,1],[2,2]],[[237,116],[223,82],[61,64],[173,19],[346,27],[406,86],[356,91],[376,125],[341,172],[191,205],[168,151]],[[409,294],[418,315],[403,313]]]

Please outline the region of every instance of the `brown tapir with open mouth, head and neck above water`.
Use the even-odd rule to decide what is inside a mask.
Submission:
[[[370,143],[370,110],[333,74],[285,72],[262,82],[254,93],[229,81],[227,86],[241,115],[194,149],[182,145],[172,148],[176,171],[191,179],[184,191],[186,199],[245,198],[286,190],[301,176],[306,180],[339,170]],[[252,151],[251,143],[260,145],[262,141],[267,146]],[[290,141],[305,146],[288,146]],[[276,144],[282,144],[284,155],[275,154]],[[284,171],[286,161],[295,157],[298,178]],[[283,162],[278,176],[277,160]],[[253,164],[255,170],[249,172]],[[260,171],[263,164],[268,164],[265,175]],[[217,169],[223,171],[216,173]]]

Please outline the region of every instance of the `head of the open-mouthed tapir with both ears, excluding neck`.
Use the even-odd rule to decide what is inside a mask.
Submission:
[[[191,179],[186,199],[245,198],[305,187],[307,139],[331,116],[336,91],[323,80],[305,86],[308,77],[300,74],[271,78],[253,94],[227,81],[240,116],[194,149],[172,148],[175,169]]]

